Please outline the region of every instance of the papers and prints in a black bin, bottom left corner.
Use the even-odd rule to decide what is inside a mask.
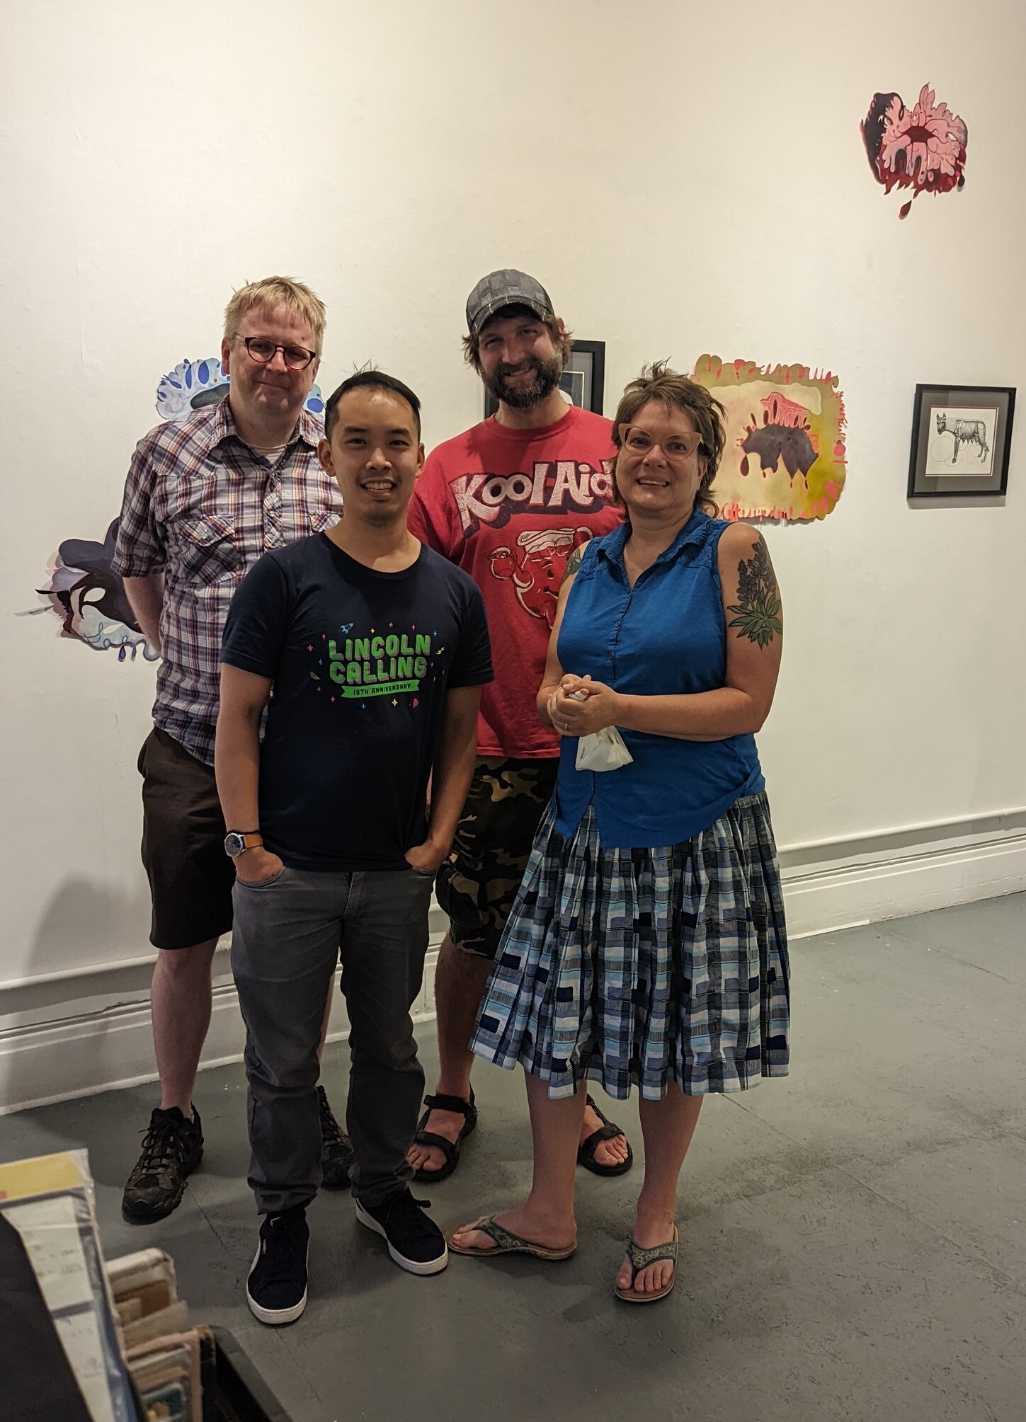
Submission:
[[[242,1396],[169,1254],[104,1264],[85,1150],[0,1165],[0,1422],[203,1422],[203,1395],[208,1416],[235,1416],[222,1368]],[[252,1415],[285,1418],[273,1399]]]

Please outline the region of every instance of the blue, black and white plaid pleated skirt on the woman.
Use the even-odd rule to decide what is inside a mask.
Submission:
[[[583,1078],[657,1101],[786,1076],[787,930],[766,795],[693,839],[603,849],[593,809],[566,839],[549,805],[471,1048],[571,1096]]]

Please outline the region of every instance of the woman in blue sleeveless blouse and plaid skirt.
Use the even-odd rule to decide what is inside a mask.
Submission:
[[[505,929],[472,1049],[522,1062],[527,1202],[455,1230],[458,1254],[576,1249],[586,1082],[640,1094],[645,1180],[616,1294],[673,1288],[677,1176],[702,1101],[788,1069],[780,872],[754,732],[777,683],[781,603],[757,529],[716,518],[723,407],[647,367],[620,400],[626,520],[566,570],[538,693],[559,778]],[[578,769],[618,728],[632,759]],[[588,742],[593,747],[595,742]]]

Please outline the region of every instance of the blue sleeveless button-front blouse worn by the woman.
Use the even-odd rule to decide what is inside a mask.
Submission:
[[[559,665],[628,695],[682,695],[723,685],[727,629],[716,549],[726,519],[696,510],[633,587],[628,525],[585,545],[559,629]],[[633,764],[578,771],[565,737],[555,789],[556,829],[572,836],[589,805],[603,848],[655,849],[692,839],[741,795],[766,788],[754,735],[677,741],[620,729]]]

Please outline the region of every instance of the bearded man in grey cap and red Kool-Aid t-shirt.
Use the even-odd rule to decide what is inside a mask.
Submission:
[[[522,272],[492,272],[470,294],[467,327],[467,361],[498,411],[430,455],[408,525],[484,593],[495,680],[482,688],[478,764],[438,870],[450,931],[435,977],[438,1091],[407,1158],[418,1180],[451,1175],[477,1123],[467,1042],[559,761],[559,738],[535,711],[559,586],[573,550],[620,522],[612,425],[559,390],[571,340],[545,289]],[[591,1101],[578,1160],[596,1175],[632,1160],[623,1132]]]

